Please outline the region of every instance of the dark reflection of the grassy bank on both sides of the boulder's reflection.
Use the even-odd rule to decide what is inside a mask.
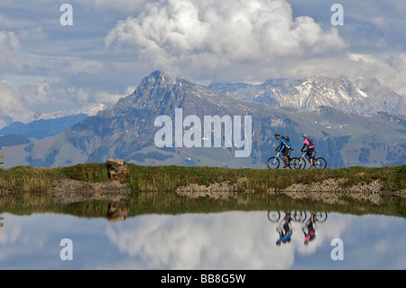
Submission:
[[[69,205],[55,204],[44,195],[24,196],[3,202],[0,199],[0,211],[16,215],[32,213],[60,213],[85,218],[107,218],[108,202],[88,201]],[[236,199],[228,201],[210,200],[207,198],[190,199],[177,196],[173,192],[140,192],[134,193],[126,201],[129,211],[127,217],[147,214],[184,214],[184,213],[219,213],[225,211],[268,211],[268,210],[301,210],[325,211],[345,214],[366,215],[382,214],[406,217],[406,200],[395,197],[384,197],[380,206],[367,202],[348,200],[348,205],[328,205],[311,200],[293,200],[286,195],[268,195],[265,193],[240,193]]]

